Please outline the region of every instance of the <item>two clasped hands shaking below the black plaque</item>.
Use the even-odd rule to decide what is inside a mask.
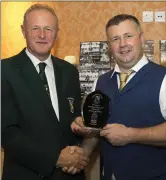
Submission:
[[[79,146],[67,146],[62,149],[56,165],[62,168],[63,172],[74,175],[83,170],[88,162],[89,158],[85,149]]]

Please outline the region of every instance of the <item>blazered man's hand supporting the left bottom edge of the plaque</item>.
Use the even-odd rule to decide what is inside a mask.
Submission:
[[[96,136],[92,130],[87,129],[84,125],[84,120],[82,117],[77,117],[71,124],[71,130],[73,133],[83,136],[83,137],[93,137]]]

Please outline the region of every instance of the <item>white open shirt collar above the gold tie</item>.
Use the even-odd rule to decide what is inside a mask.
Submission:
[[[142,56],[141,60],[137,62],[137,64],[135,64],[131,69],[134,70],[134,72],[138,72],[143,66],[145,66],[147,63],[148,63],[148,59],[146,58],[145,55]],[[119,66],[118,64],[115,64],[115,67],[114,67],[114,71],[113,73],[111,74],[111,78],[112,76],[115,74],[115,73],[120,73],[120,69],[119,69]]]

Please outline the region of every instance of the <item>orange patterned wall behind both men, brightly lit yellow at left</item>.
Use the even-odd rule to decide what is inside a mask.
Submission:
[[[33,3],[2,3],[2,58],[16,54],[25,46],[23,36],[20,35],[20,25],[25,9]],[[112,16],[129,13],[142,22],[142,11],[166,11],[166,2],[47,2],[47,4],[55,8],[60,22],[59,36],[54,48],[55,55],[62,59],[66,55],[75,55],[77,63],[79,63],[80,42],[106,40],[105,24]],[[166,23],[152,22],[142,25],[145,39],[155,40],[155,61],[159,63],[158,41],[166,39]]]

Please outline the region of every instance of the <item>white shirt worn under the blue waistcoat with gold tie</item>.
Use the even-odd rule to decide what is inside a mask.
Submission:
[[[147,63],[148,63],[148,60],[147,60],[146,56],[144,55],[142,57],[142,59],[134,67],[131,68],[132,70],[134,70],[134,73],[132,73],[129,76],[126,83],[128,83],[133,78],[133,76],[135,76],[135,74]],[[115,65],[114,72],[112,73],[110,78],[112,78],[112,76],[115,72],[121,72],[119,69],[119,66],[117,64]],[[95,82],[93,83],[92,91],[94,91],[96,88],[97,80],[98,79],[96,79]],[[117,82],[118,82],[118,87],[119,87],[120,79],[119,79],[118,74],[117,74]],[[166,75],[164,76],[164,79],[163,79],[163,82],[162,82],[161,88],[160,88],[159,104],[160,104],[161,114],[162,114],[163,118],[166,120]]]

